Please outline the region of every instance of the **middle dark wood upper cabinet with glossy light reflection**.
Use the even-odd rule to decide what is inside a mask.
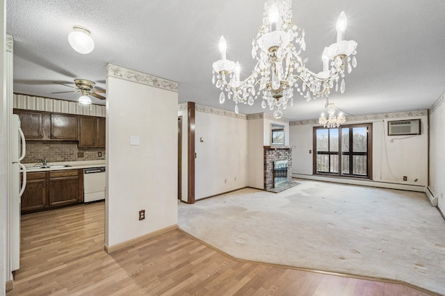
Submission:
[[[51,113],[51,139],[78,140],[78,116],[72,114]]]

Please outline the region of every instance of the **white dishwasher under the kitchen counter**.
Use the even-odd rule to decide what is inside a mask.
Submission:
[[[83,169],[83,202],[105,199],[105,167]]]

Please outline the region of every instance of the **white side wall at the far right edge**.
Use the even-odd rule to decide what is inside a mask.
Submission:
[[[445,213],[445,93],[430,109],[430,188],[437,206]]]

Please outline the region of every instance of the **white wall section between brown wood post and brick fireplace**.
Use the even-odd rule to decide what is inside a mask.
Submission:
[[[247,186],[248,122],[214,110],[195,109],[195,200]]]

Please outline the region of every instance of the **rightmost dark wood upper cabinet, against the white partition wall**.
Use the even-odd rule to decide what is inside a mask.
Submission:
[[[80,147],[105,147],[105,117],[80,117]]]

